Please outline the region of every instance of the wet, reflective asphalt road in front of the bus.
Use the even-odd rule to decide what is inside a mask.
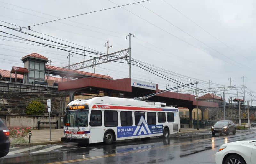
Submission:
[[[0,159],[7,163],[215,163],[215,153],[220,145],[239,141],[256,140],[256,128],[237,130],[229,136],[209,131],[182,132],[168,139],[153,137],[80,145],[63,143],[13,147]]]

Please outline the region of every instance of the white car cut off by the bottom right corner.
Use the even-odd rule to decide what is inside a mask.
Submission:
[[[216,164],[256,164],[256,140],[223,144],[215,154]]]

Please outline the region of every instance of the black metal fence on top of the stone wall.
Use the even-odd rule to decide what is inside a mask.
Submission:
[[[47,82],[22,83],[12,81],[0,81],[0,92],[20,93],[66,93],[58,91],[58,84]]]

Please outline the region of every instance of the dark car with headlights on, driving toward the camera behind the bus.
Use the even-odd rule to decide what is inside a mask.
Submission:
[[[233,121],[230,120],[221,120],[217,121],[212,126],[212,135],[214,136],[216,133],[220,134],[226,134],[229,135],[229,133],[232,132],[233,134],[236,134],[236,124],[233,123]]]

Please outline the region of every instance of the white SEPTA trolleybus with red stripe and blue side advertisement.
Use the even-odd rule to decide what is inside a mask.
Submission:
[[[179,110],[166,103],[116,97],[74,100],[66,108],[61,141],[105,142],[163,136],[180,131]]]

